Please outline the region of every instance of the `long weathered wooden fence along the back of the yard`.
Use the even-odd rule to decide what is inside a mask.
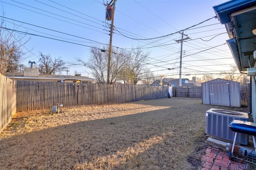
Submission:
[[[76,107],[167,97],[167,86],[17,81],[17,112],[50,109],[52,103]]]

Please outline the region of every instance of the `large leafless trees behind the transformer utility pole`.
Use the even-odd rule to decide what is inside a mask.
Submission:
[[[105,49],[105,50],[100,50]],[[108,45],[103,47],[94,46],[91,48],[88,61],[81,58],[75,58],[75,62],[70,62],[71,65],[84,65],[91,70],[92,76],[97,83],[107,83],[107,68],[108,68]],[[149,53],[144,53],[141,49],[127,51],[120,48],[112,48],[110,58],[110,84],[118,81],[123,81],[124,84],[132,82],[136,84],[144,78],[145,64]]]

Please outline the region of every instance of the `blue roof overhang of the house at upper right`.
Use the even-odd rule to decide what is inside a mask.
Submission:
[[[239,71],[254,66],[256,50],[256,0],[230,0],[213,7],[221,24],[225,24],[228,46]]]

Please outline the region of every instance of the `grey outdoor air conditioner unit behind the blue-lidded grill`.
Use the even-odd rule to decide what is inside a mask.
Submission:
[[[206,111],[205,133],[213,138],[233,142],[235,132],[228,127],[233,120],[248,119],[248,113],[235,112],[221,109],[209,109]],[[237,133],[236,143],[248,145],[248,134]]]

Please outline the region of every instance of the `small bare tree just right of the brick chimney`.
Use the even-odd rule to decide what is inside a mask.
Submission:
[[[40,52],[38,69],[41,74],[60,73],[65,69],[65,62],[60,59],[60,57],[52,59],[50,54],[43,55],[43,53]]]

